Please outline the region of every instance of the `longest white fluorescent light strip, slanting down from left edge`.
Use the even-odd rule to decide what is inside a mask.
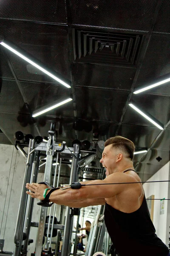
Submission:
[[[28,63],[32,64],[34,67],[37,67],[39,70],[41,70],[42,72],[44,72],[45,74],[47,74],[48,76],[51,76],[53,79],[55,79],[56,81],[58,81],[60,84],[63,84],[65,87],[67,88],[71,88],[71,86],[69,84],[66,84],[64,81],[62,81],[61,79],[59,79],[57,76],[54,76],[53,74],[51,74],[50,72],[48,72],[47,70],[45,70],[44,68],[40,67],[39,65],[37,65],[35,62],[31,61],[30,59],[28,59],[26,56],[24,56],[23,54],[21,54],[20,52],[17,52],[15,49],[13,49],[12,47],[8,46],[8,44],[5,44],[3,42],[0,43],[1,45],[3,45],[4,47],[6,47],[8,50],[10,50],[11,52],[14,52],[16,55],[18,55],[20,58],[23,58],[25,61],[27,61]]]

